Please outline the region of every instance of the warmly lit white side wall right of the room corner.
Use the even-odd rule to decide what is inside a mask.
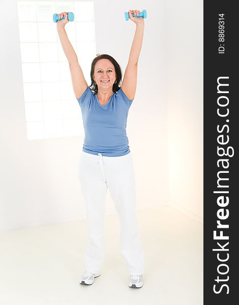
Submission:
[[[203,1],[166,1],[170,204],[203,219]]]

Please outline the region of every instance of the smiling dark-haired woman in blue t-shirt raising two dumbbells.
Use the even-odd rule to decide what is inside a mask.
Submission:
[[[57,21],[57,32],[70,65],[85,132],[79,159],[79,179],[86,204],[88,231],[85,272],[80,280],[82,285],[92,285],[94,279],[100,276],[104,259],[103,223],[107,189],[121,223],[121,252],[129,270],[129,287],[140,288],[143,285],[144,258],[135,214],[135,176],[126,123],[136,92],[144,20],[132,14],[138,15],[139,11],[129,11],[136,31],[122,85],[119,86],[122,73],[118,63],[110,55],[102,54],[92,62],[92,83],[89,87],[65,31],[68,15],[66,12],[58,14],[59,18],[65,16],[65,19]]]

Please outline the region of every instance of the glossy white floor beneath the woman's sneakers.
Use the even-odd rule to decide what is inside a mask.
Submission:
[[[84,271],[86,221],[0,233],[3,305],[203,304],[203,226],[163,207],[137,211],[144,248],[144,285],[128,287],[117,215],[105,217],[105,261],[91,286]]]

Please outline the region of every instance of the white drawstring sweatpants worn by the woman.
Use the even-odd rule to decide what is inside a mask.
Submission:
[[[121,252],[130,275],[144,273],[143,249],[135,214],[136,191],[131,152],[120,157],[81,151],[79,179],[86,205],[88,244],[85,270],[100,272],[104,260],[104,215],[107,188],[121,224]]]

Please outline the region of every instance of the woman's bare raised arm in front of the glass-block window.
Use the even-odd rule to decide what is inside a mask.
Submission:
[[[65,16],[65,19],[57,21],[56,27],[63,51],[68,59],[75,96],[76,98],[80,98],[87,88],[87,83],[78,63],[76,52],[74,51],[65,30],[65,25],[69,22],[68,15],[67,13],[61,13],[58,16],[59,18],[63,18],[63,16]]]

